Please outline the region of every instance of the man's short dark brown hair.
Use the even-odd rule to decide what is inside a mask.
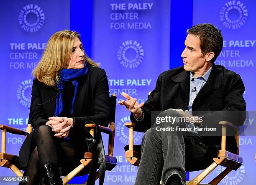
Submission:
[[[202,56],[209,52],[214,53],[214,57],[211,60],[211,63],[214,63],[223,47],[221,30],[212,24],[202,23],[188,29],[187,34],[196,35],[200,38]]]

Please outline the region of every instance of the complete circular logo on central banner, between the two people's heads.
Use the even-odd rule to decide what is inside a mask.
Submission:
[[[118,61],[125,68],[138,67],[144,58],[144,50],[137,41],[125,41],[118,48]]]

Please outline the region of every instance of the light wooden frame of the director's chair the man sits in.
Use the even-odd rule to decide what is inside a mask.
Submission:
[[[213,158],[213,163],[202,171],[197,177],[191,181],[187,181],[187,185],[199,185],[199,183],[214,170],[218,165],[226,167],[226,169],[221,172],[217,177],[215,177],[209,185],[217,185],[229,172],[232,170],[237,170],[243,164],[243,158],[239,156],[239,128],[234,126],[230,122],[222,121],[219,122],[222,129],[221,136],[221,150],[218,151],[217,157]],[[125,123],[125,126],[129,128],[129,150],[125,151],[125,158],[132,165],[138,166],[140,162],[140,156],[138,152],[133,150],[133,128],[136,125],[132,122]],[[235,139],[237,144],[236,154],[226,151],[226,129],[227,127],[232,127],[235,130]]]

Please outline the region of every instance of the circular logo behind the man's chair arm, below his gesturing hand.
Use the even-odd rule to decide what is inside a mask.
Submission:
[[[126,122],[131,122],[130,117],[123,117],[119,122],[115,124],[115,135],[118,137],[118,140],[123,144],[129,144],[129,129],[125,127]],[[133,143],[141,143],[141,138],[143,133],[133,132]]]

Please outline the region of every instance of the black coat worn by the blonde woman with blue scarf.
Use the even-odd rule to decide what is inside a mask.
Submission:
[[[110,119],[110,104],[108,79],[105,71],[98,67],[87,65],[88,73],[79,78],[79,86],[74,103],[73,118],[76,120],[76,127],[70,129],[69,137],[73,140],[81,139],[82,130],[86,121],[93,121],[97,124],[107,126]],[[33,129],[46,124],[49,117],[55,116],[56,98],[52,99],[58,90],[33,80],[31,109],[28,123],[32,124]],[[49,101],[52,99],[51,101]],[[43,105],[44,102],[47,102]],[[35,106],[36,105],[36,106]],[[33,131],[34,132],[34,131]],[[19,155],[20,167],[26,167],[31,150],[33,149],[33,132],[25,139]]]

